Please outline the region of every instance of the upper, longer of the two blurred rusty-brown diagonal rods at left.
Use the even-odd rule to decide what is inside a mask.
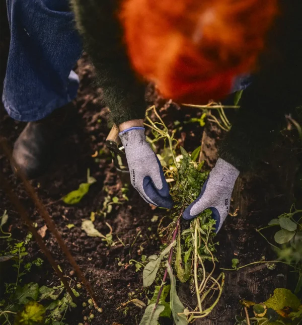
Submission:
[[[42,218],[44,219],[45,223],[47,224],[48,229],[52,232],[52,234],[55,236],[61,250],[64,252],[65,256],[67,257],[69,263],[71,264],[71,266],[73,267],[74,271],[78,274],[80,280],[82,281],[82,283],[85,285],[87,291],[89,292],[89,294],[91,295],[92,299],[94,300],[95,306],[97,306],[97,298],[96,295],[94,294],[90,283],[86,280],[83,272],[81,271],[79,265],[77,264],[77,262],[75,262],[74,258],[72,257],[70,251],[68,250],[63,238],[61,237],[61,235],[59,234],[55,223],[53,222],[53,220],[50,218],[46,208],[44,207],[43,203],[41,202],[40,198],[38,197],[37,193],[35,192],[35,189],[33,188],[33,186],[30,184],[30,182],[27,180],[27,178],[25,177],[25,175],[22,173],[22,171],[20,170],[20,168],[18,167],[15,159],[12,156],[11,150],[7,144],[7,141],[5,138],[1,137],[0,138],[0,143],[2,145],[2,148],[6,154],[6,156],[8,157],[8,159],[11,161],[11,164],[13,165],[13,167],[15,168],[15,172],[16,174],[20,177],[20,179],[23,182],[23,185],[27,191],[27,193],[29,194],[29,196],[32,198],[32,200],[34,201],[40,215],[42,216]]]

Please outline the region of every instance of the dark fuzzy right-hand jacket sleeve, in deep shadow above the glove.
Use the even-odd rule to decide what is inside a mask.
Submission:
[[[241,108],[218,155],[248,170],[263,156],[285,126],[286,113],[301,103],[302,3],[279,1],[280,13],[268,38],[258,73],[243,92]]]

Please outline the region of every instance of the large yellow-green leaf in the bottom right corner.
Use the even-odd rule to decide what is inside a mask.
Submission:
[[[278,288],[274,290],[274,295],[264,302],[267,308],[282,310],[284,307],[291,307],[297,311],[300,306],[300,300],[288,289]]]

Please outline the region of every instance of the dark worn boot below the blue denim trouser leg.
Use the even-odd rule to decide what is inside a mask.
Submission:
[[[75,108],[70,103],[42,120],[29,122],[21,132],[14,145],[13,157],[29,179],[47,170],[59,143],[74,123],[74,115]]]

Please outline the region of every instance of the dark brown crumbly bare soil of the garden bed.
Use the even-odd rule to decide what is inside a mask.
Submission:
[[[5,12],[5,3],[2,3],[0,4],[0,28],[3,31],[3,37],[0,40],[1,80],[4,79],[9,48],[9,30],[6,17],[4,17]],[[108,108],[102,103],[102,90],[95,84],[94,71],[86,55],[79,60],[76,71],[80,76],[81,86],[77,100],[74,101],[74,108],[77,110],[74,131],[58,144],[59,153],[47,174],[32,181],[32,184],[47,207],[49,215],[54,220],[71,254],[90,281],[99,299],[98,303],[103,308],[103,313],[94,311],[95,318],[89,323],[138,324],[143,311],[133,304],[127,305],[129,307],[127,309],[122,306],[122,303],[130,299],[131,293],[147,302],[143,294],[141,272],[136,272],[134,264],[129,265],[129,261],[131,259],[140,261],[142,254],[149,256],[159,251],[162,241],[157,235],[157,227],[165,212],[150,207],[131,189],[127,194],[129,201],[122,197],[121,189],[124,185],[116,173],[105,146],[106,136],[111,126]],[[165,106],[163,105],[165,101],[157,96],[153,87],[149,88],[148,98],[158,107]],[[168,121],[171,129],[175,120],[183,122],[189,117],[200,115],[195,110],[180,109],[174,103],[168,103],[161,110],[161,114]],[[11,145],[24,126],[25,123],[11,119],[1,106],[0,134],[5,135]],[[185,124],[178,134],[181,139],[180,144],[188,151],[192,151],[200,144],[202,132],[203,129],[197,124]],[[221,136],[222,134],[217,133],[216,129],[209,127],[207,131],[209,139],[217,140]],[[211,166],[215,160],[213,152],[215,152],[217,141],[206,143],[204,155],[210,156],[207,162]],[[255,229],[266,225],[270,219],[282,212],[288,211],[291,203],[294,202],[295,193],[298,192],[295,192],[293,184],[298,168],[298,157],[301,158],[300,149],[295,150],[294,147],[291,137],[280,137],[272,154],[270,153],[265,161],[259,163],[256,171],[244,175],[238,182],[231,212],[234,213],[238,207],[239,211],[233,217],[227,218],[223,229],[217,235],[217,240],[220,242],[217,256],[221,267],[231,267],[232,258],[238,258],[241,265],[259,261],[262,256],[266,259],[274,258],[273,251]],[[103,152],[101,155],[92,157],[96,151],[100,150]],[[10,164],[4,155],[0,155],[0,164],[1,171],[14,186],[19,199],[33,222],[37,222],[37,228],[40,229],[44,222],[22,184],[12,174]],[[91,186],[89,193],[79,204],[74,206],[64,204],[60,199],[70,191],[77,189],[80,183],[86,182],[88,168],[97,182]],[[105,197],[108,195],[118,197],[119,204],[114,204],[112,211],[105,218],[98,212],[103,209]],[[3,191],[0,191],[0,202],[0,214],[2,215],[4,210],[8,211],[9,231],[12,232],[14,238],[23,239],[27,228],[22,224],[18,213]],[[122,243],[118,242],[114,247],[107,247],[102,238],[88,237],[81,230],[81,224],[83,219],[89,219],[91,212],[96,212],[95,227],[106,234],[109,232],[106,222],[109,223],[113,229],[114,240],[117,240],[118,235]],[[151,221],[154,215],[159,216],[157,222]],[[74,224],[74,227],[68,229],[68,224]],[[270,235],[268,233],[268,236]],[[44,241],[62,267],[63,273],[76,282],[77,276],[71,266],[66,263],[65,257],[48,230]],[[0,241],[0,250],[3,245]],[[33,272],[26,275],[24,282],[35,281],[40,285],[58,284],[57,276],[34,240],[30,242],[28,252],[26,260],[32,261],[40,257],[45,262],[41,268],[33,267]],[[1,300],[3,284],[14,281],[16,274],[11,272],[11,268],[0,269],[0,274]],[[283,277],[277,277],[280,274],[283,274]],[[209,318],[200,323],[231,325],[235,322],[236,313],[240,312],[240,299],[264,301],[276,285],[291,285],[287,281],[286,268],[279,265],[275,270],[268,270],[264,265],[251,267],[248,271],[229,272],[227,279],[221,304]],[[84,287],[79,292],[81,293],[79,297],[81,306],[83,301],[89,299],[89,296]],[[190,300],[187,292],[183,296],[187,296],[186,299]],[[89,316],[90,313],[89,307],[73,308],[66,314],[66,322],[69,325],[85,323],[83,317]],[[171,321],[165,320],[162,323],[168,325]]]

